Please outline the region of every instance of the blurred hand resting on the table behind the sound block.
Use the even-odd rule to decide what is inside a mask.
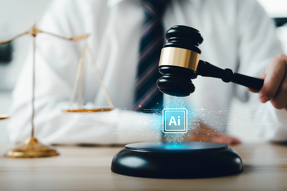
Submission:
[[[226,134],[223,135],[196,135],[189,134],[185,135],[185,141],[203,141],[203,142],[216,142],[216,143],[225,143],[227,145],[240,144],[241,141],[234,137],[230,137]]]

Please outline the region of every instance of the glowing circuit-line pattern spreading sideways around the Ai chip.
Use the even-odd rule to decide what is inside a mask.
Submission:
[[[180,100],[180,99],[179,99]],[[168,102],[166,107],[173,108],[174,103]],[[185,107],[178,103],[179,107]],[[182,105],[181,105],[182,104]],[[176,107],[175,107],[176,108]],[[153,111],[152,111],[153,110]],[[161,136],[168,141],[181,142],[185,134],[223,135],[241,133],[241,127],[250,125],[276,125],[274,116],[268,116],[262,111],[243,111],[239,108],[222,108],[218,111],[206,109],[187,109],[187,133],[178,135],[164,134],[162,126],[162,110],[147,109],[143,112],[129,111],[127,108],[116,108],[105,112],[79,113],[75,125],[101,126],[110,129],[112,134],[136,136]]]

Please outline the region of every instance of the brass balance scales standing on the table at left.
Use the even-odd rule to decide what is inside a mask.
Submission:
[[[1,44],[6,44],[9,42],[12,42],[13,40],[24,36],[26,34],[30,34],[33,37],[33,43],[32,43],[32,50],[33,50],[33,80],[32,80],[32,117],[31,117],[31,122],[32,122],[32,133],[31,133],[31,137],[28,137],[24,143],[22,145],[20,145],[17,148],[11,149],[9,151],[7,151],[7,153],[4,155],[5,157],[11,157],[11,158],[27,158],[27,157],[52,157],[52,156],[57,156],[59,155],[59,153],[53,149],[52,147],[48,147],[45,145],[42,145],[35,137],[34,137],[34,98],[35,98],[35,50],[36,50],[36,43],[35,43],[35,39],[36,39],[36,35],[38,33],[46,33],[49,34],[51,36],[57,37],[57,38],[61,38],[64,40],[69,40],[69,41],[78,41],[78,40],[85,40],[89,35],[85,34],[82,36],[73,36],[71,38],[65,38],[63,36],[58,36],[56,34],[52,34],[49,32],[45,32],[45,31],[41,31],[39,30],[36,25],[35,22],[33,22],[33,26],[32,29],[30,29],[27,32],[24,32],[22,34],[19,34],[7,41],[3,41],[0,42]],[[108,102],[108,107],[101,107],[101,108],[94,108],[94,109],[85,109],[82,107],[82,95],[83,95],[83,87],[84,87],[84,78],[85,78],[85,56],[86,56],[86,52],[88,52],[88,54],[91,57],[92,60],[92,64],[94,66],[95,72],[96,72],[96,76],[99,80],[100,86],[102,88],[102,90],[104,91],[104,95],[106,97],[106,100]],[[79,88],[78,88],[79,86]],[[77,94],[78,92],[78,94]],[[73,107],[73,103],[75,101],[75,97],[77,94],[77,108]],[[102,76],[100,74],[100,71],[98,69],[98,66],[96,65],[96,61],[95,58],[92,54],[92,51],[90,49],[90,47],[88,46],[88,44],[85,42],[84,44],[84,48],[79,60],[79,65],[78,65],[78,69],[77,69],[77,73],[76,73],[76,78],[75,78],[75,83],[73,86],[73,91],[72,91],[72,96],[71,96],[71,100],[70,100],[70,104],[68,106],[67,109],[62,109],[63,112],[80,112],[80,113],[84,113],[84,112],[88,112],[88,111],[92,111],[92,112],[102,112],[102,111],[110,111],[115,107],[115,105],[113,104],[112,100],[110,99],[110,96],[108,94],[108,91],[106,89],[106,86],[104,85],[104,82],[102,80]],[[8,115],[0,115],[0,120],[3,119],[8,119],[9,116]]]

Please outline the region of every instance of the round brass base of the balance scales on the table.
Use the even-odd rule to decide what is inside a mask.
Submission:
[[[4,157],[35,158],[57,155],[59,153],[55,149],[42,145],[35,137],[28,137],[20,147],[7,151]]]

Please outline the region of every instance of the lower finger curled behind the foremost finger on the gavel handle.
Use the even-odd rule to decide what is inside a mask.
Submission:
[[[286,69],[285,69],[286,72]],[[270,100],[272,105],[277,109],[282,109],[287,105],[287,76],[281,82],[275,96]]]

